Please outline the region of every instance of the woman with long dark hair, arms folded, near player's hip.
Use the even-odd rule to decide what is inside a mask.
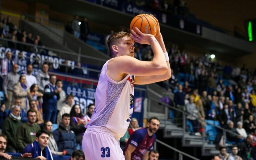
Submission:
[[[85,132],[84,125],[87,121],[84,120],[84,115],[82,114],[81,107],[78,104],[75,104],[70,111],[70,126],[72,131],[76,134],[76,144],[77,149],[82,149],[82,139]]]

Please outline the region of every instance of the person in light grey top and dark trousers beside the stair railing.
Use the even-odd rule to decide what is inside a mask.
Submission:
[[[192,131],[191,134],[194,133],[196,136],[201,136],[199,133],[199,123],[197,121],[198,110],[195,107],[193,97],[190,97],[189,103],[186,105],[186,111],[189,113],[187,116],[187,121],[189,121],[193,126],[193,128],[190,128],[190,131]]]

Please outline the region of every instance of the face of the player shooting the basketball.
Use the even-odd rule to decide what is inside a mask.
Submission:
[[[125,36],[120,40],[118,47],[118,56],[131,56],[134,57],[134,41],[130,36]]]

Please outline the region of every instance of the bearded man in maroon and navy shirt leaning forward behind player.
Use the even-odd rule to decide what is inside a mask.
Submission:
[[[148,120],[147,128],[135,131],[124,147],[125,160],[148,159],[148,153],[156,141],[160,121],[156,117]]]

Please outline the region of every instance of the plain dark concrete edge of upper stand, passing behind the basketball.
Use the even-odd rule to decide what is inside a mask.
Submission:
[[[92,4],[84,0],[22,0],[27,3],[40,2],[48,4],[51,10],[56,10],[69,15],[86,16],[90,20],[99,23],[118,26],[129,26],[133,18],[124,12],[119,12],[108,7]],[[225,43],[216,42],[203,36],[195,35],[178,28],[170,27],[164,24],[161,25],[161,32],[165,41],[171,41],[181,44],[190,44],[200,47],[204,50],[212,51],[220,54],[232,56],[243,56],[244,54],[252,54],[254,52],[254,44],[250,44],[244,40],[238,40],[239,44],[244,43],[242,47],[237,45],[228,45]],[[234,39],[234,37],[233,37]],[[243,47],[246,46],[246,47]]]

